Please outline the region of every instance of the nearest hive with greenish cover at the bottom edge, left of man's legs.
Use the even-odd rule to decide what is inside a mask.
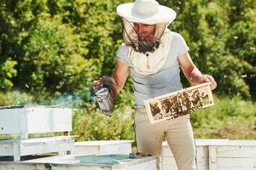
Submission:
[[[4,170],[156,170],[155,156],[129,155],[50,156],[29,161],[1,162]]]

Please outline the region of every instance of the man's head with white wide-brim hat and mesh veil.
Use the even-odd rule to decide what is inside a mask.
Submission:
[[[160,5],[155,0],[136,0],[117,7],[123,19],[124,42],[138,52],[154,52],[159,47],[160,37],[166,27],[176,18],[172,8]]]

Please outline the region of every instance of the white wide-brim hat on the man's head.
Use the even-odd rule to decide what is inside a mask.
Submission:
[[[135,3],[123,3],[117,8],[117,14],[131,22],[154,25],[168,22],[176,18],[172,8],[160,5],[155,0],[136,0]]]

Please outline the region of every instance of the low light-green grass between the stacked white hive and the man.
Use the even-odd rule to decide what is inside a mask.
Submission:
[[[84,110],[74,111],[72,133],[79,135],[77,140],[134,139],[130,107],[115,110],[112,116],[94,110],[95,105],[88,105]]]

